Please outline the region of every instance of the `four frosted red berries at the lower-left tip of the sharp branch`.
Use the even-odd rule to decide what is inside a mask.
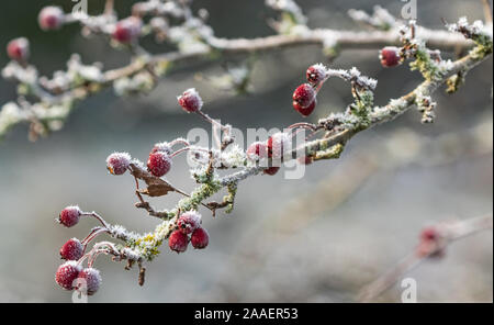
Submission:
[[[81,212],[78,206],[67,206],[60,212],[58,222],[66,227],[71,227],[79,222],[81,215],[87,215],[87,213]],[[100,288],[100,272],[91,266],[88,268],[81,266],[86,246],[96,237],[96,234],[97,232],[91,232],[82,242],[71,238],[61,246],[60,257],[67,261],[58,267],[55,281],[63,289],[78,290],[92,295]]]

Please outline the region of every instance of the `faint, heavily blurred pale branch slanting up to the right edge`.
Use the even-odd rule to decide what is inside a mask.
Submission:
[[[330,216],[333,211],[344,204],[375,175],[390,175],[396,169],[411,165],[424,168],[445,166],[461,159],[484,157],[492,153],[491,112],[479,119],[475,126],[461,132],[445,133],[430,138],[409,128],[401,128],[386,136],[385,141],[374,141],[371,145],[350,154],[348,161],[336,166],[326,178],[311,189],[310,193],[297,195],[296,199],[284,203],[284,206],[274,215],[262,218],[249,232],[246,232],[236,250],[231,254],[226,271],[220,276],[221,280],[217,285],[213,285],[213,291],[222,291],[231,299],[238,300],[239,296],[235,298],[237,294],[235,290],[229,288],[232,283],[229,274],[245,280],[262,277],[262,270],[272,255],[272,250],[263,249],[267,243],[270,247],[283,247],[283,243],[303,233],[318,218]],[[467,227],[463,228],[467,231]],[[252,242],[252,234],[256,237],[255,242]],[[391,281],[396,281],[395,277],[408,270],[412,261],[415,265],[416,259],[415,255],[407,258],[403,266],[397,267],[400,272],[394,270],[393,279],[388,276],[385,283],[380,283],[379,289],[372,289],[372,296],[367,296],[367,300],[378,295],[379,290],[392,285]],[[249,261],[248,268],[245,267],[245,260]],[[359,280],[362,281],[362,279]],[[347,290],[353,294],[353,288],[347,288]]]

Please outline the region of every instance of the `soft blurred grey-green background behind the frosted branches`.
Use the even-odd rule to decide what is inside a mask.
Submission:
[[[121,15],[135,1],[116,1]],[[347,18],[351,8],[371,11],[380,4],[398,14],[403,3],[389,1],[304,0],[311,27],[358,29]],[[70,1],[2,1],[1,46],[16,36],[31,40],[32,61],[43,75],[64,69],[71,53],[85,63],[105,68],[125,65],[128,57],[105,42],[80,36],[77,26],[44,33],[37,26],[41,8]],[[101,10],[103,1],[89,1]],[[217,36],[256,37],[273,32],[266,24],[272,12],[261,0],[203,0],[194,8],[210,12]],[[418,2],[418,23],[440,29],[461,15],[483,19],[481,1]],[[151,42],[149,42],[151,43]],[[158,45],[144,44],[159,52]],[[54,222],[59,211],[79,204],[98,211],[110,223],[138,232],[158,221],[134,203],[134,180],[112,177],[105,158],[124,150],[146,159],[151,145],[186,136],[191,127],[207,125],[184,114],[176,96],[195,87],[204,110],[237,128],[279,127],[300,121],[291,108],[293,89],[305,69],[324,61],[316,46],[262,54],[254,70],[254,92],[236,97],[218,91],[194,74],[222,74],[223,60],[191,65],[173,71],[147,97],[117,98],[112,89],[82,102],[65,127],[36,143],[27,126],[15,127],[0,143],[0,302],[69,302],[54,273],[58,249],[67,238],[83,238],[92,221],[63,228]],[[0,53],[0,66],[7,64]],[[412,90],[419,81],[407,67],[383,69],[378,51],[346,51],[333,65],[357,66],[379,79],[375,102]],[[391,268],[417,244],[425,225],[473,217],[493,206],[492,58],[471,71],[458,93],[437,92],[437,120],[419,123],[414,110],[393,123],[356,136],[343,157],[319,161],[305,177],[285,180],[282,172],[244,181],[231,215],[207,211],[203,224],[210,246],[177,255],[164,245],[148,265],[146,283],[123,264],[98,259],[103,285],[90,302],[352,302],[358,291]],[[0,103],[15,98],[15,86],[0,80]],[[351,101],[348,85],[329,82],[319,93],[316,113],[308,120],[341,111]],[[183,164],[180,164],[182,161]],[[183,157],[168,179],[191,190]],[[176,194],[153,200],[172,208]],[[406,277],[418,283],[422,302],[485,302],[493,300],[493,235],[491,231],[457,242],[440,260],[424,262]],[[398,302],[400,285],[375,301]]]

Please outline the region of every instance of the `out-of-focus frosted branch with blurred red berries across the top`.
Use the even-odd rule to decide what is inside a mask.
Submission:
[[[173,1],[137,2],[133,7],[133,16],[120,21],[112,1],[106,2],[101,15],[94,16],[80,12],[64,14],[60,9],[48,7],[53,15],[49,19],[56,20],[57,24],[42,24],[42,29],[56,30],[64,24],[80,23],[85,36],[109,38],[115,48],[131,53],[132,61],[127,66],[104,71],[99,63],[86,65],[79,55],[74,55],[67,63],[67,71],[55,71],[53,78],[42,77],[38,76],[37,68],[29,64],[30,49],[26,42],[26,49],[21,52],[24,55],[11,55],[13,60],[3,69],[4,78],[19,83],[19,98],[16,102],[3,105],[0,111],[0,137],[10,127],[27,122],[31,123],[30,138],[34,141],[40,135],[59,130],[76,103],[89,96],[109,87],[113,87],[119,96],[147,93],[156,87],[158,77],[165,76],[172,67],[191,61],[217,60],[231,55],[251,55],[310,44],[319,45],[328,59],[334,59],[347,48],[378,49],[385,45],[401,44],[400,25],[403,22],[380,7],[375,7],[372,18],[361,11],[350,11],[350,16],[357,21],[366,18],[371,20],[371,31],[347,31],[311,30],[293,1],[268,0],[267,4],[280,13],[279,20],[269,22],[278,34],[251,40],[216,37],[205,23],[207,15],[204,11],[194,15],[188,1],[181,4]],[[41,22],[45,15],[46,10],[40,14]],[[145,18],[149,20],[144,21]],[[170,25],[170,21],[177,19],[180,23]],[[415,33],[416,37],[434,48],[464,52],[473,45],[458,33],[422,26],[416,26]],[[155,35],[157,43],[166,41],[177,51],[148,53],[138,44],[138,40],[149,34]],[[239,86],[246,89],[249,80],[243,81]]]

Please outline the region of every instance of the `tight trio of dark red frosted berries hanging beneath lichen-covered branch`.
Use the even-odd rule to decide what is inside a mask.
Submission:
[[[190,235],[190,238],[189,238]],[[195,211],[189,211],[180,215],[177,221],[177,229],[168,238],[171,250],[183,253],[189,242],[197,249],[202,249],[210,243],[210,235],[201,227],[201,215]]]

